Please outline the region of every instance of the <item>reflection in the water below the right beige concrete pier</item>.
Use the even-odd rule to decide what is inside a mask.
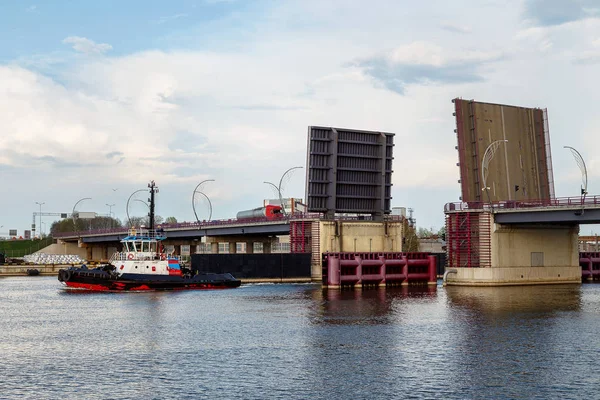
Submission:
[[[465,390],[514,398],[530,387],[527,397],[562,397],[572,394],[572,379],[586,380],[572,323],[580,286],[454,286],[446,295],[454,339],[448,374]]]

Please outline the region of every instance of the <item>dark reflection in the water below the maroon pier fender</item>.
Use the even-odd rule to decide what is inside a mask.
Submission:
[[[377,399],[427,392],[426,360],[428,354],[435,359],[435,345],[430,350],[425,343],[427,325],[437,318],[435,286],[314,290],[312,299],[303,369],[317,393]],[[414,313],[417,304],[421,316]]]

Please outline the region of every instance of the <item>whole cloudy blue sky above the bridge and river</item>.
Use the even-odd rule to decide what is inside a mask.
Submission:
[[[0,236],[34,212],[212,218],[275,195],[307,127],[395,133],[392,206],[459,200],[456,97],[547,108],[557,196],[600,194],[597,0],[0,0]],[[284,197],[304,198],[295,170]],[[146,200],[143,193],[134,197]],[[131,215],[147,211],[130,202]],[[113,205],[114,206],[109,206]],[[208,206],[198,203],[200,219]],[[45,216],[46,232],[56,217]],[[39,220],[37,220],[39,223]],[[582,233],[593,231],[582,226]]]

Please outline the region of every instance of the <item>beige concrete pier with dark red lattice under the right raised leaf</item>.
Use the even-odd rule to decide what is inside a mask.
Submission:
[[[486,211],[448,213],[447,285],[581,283],[577,223],[502,224]]]

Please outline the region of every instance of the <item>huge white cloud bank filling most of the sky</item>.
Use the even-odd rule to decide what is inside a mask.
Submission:
[[[420,223],[440,226],[443,204],[459,195],[450,102],[457,96],[548,107],[557,149],[600,147],[600,82],[593,66],[572,62],[597,49],[590,44],[598,37],[593,21],[518,33],[523,25],[514,7],[482,12],[449,4],[439,21],[427,8],[277,2],[268,17],[244,27],[243,37],[229,38],[226,50],[71,57],[47,62],[43,73],[32,64],[2,65],[0,171],[21,200],[5,197],[0,206],[17,209],[32,199],[63,211],[92,197],[101,208],[120,201],[103,198],[110,188],[121,186],[125,201],[155,179],[160,213],[190,220],[194,186],[212,178],[213,215],[231,217],[272,195],[263,181],[304,165],[307,126],[325,125],[396,133],[393,205],[414,206]],[[481,35],[440,35],[457,8]],[[211,25],[202,38],[218,40],[218,28]],[[552,51],[540,51],[544,40]],[[110,50],[85,38],[65,43],[88,54]],[[394,73],[383,78],[409,82],[403,95],[378,85],[382,80],[356,62],[375,58]],[[562,182],[561,171],[576,166],[569,154],[553,156]],[[591,157],[590,188],[597,166]],[[302,175],[287,195],[303,197]],[[420,197],[426,190],[436,193],[427,210]],[[557,184],[559,195],[568,190]]]

